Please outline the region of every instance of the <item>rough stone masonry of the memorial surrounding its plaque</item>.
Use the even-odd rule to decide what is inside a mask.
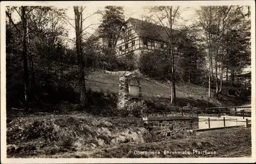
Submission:
[[[135,78],[138,81],[139,85],[139,95],[137,97],[133,97],[129,94],[129,81]],[[141,94],[141,85],[140,80],[134,73],[129,73],[124,76],[119,77],[119,92],[118,92],[118,100],[117,100],[117,108],[118,110],[126,108],[133,102],[138,102],[142,100]]]

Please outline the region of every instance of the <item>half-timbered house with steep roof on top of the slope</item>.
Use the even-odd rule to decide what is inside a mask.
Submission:
[[[122,26],[116,42],[116,55],[122,57],[132,51],[140,56],[149,51],[163,51],[168,45],[168,40],[162,26],[129,18]]]

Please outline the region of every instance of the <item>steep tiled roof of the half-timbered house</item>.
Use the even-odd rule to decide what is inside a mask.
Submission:
[[[146,22],[131,17],[126,22],[130,22],[133,25],[134,30],[138,33],[139,36],[165,42],[168,42],[169,40],[169,28],[164,28],[161,25],[157,25],[154,23]],[[167,32],[165,30],[167,30]],[[174,34],[177,32],[177,30],[174,30]]]

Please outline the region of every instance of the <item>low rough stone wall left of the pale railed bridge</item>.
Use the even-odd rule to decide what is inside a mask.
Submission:
[[[198,117],[144,118],[144,123],[157,139],[185,135],[188,130],[199,128]]]

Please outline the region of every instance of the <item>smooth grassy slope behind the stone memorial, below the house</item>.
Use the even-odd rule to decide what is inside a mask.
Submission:
[[[93,72],[87,77],[87,85],[93,90],[118,93],[119,75],[102,72]],[[170,88],[167,83],[159,83],[154,79],[141,79],[143,99],[147,101],[169,102]],[[213,94],[212,90],[212,94]],[[208,98],[208,89],[188,83],[177,83],[176,95],[178,105],[185,106],[190,103],[200,108],[213,106],[241,105],[243,102],[237,98],[220,95],[221,101]]]

